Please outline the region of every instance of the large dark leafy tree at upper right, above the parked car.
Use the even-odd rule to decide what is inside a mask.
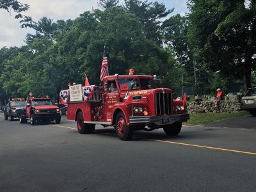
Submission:
[[[189,42],[198,65],[251,86],[255,70],[255,1],[189,1]]]

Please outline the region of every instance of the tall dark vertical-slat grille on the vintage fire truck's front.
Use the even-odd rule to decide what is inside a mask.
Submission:
[[[172,113],[172,93],[156,93],[156,115]]]

